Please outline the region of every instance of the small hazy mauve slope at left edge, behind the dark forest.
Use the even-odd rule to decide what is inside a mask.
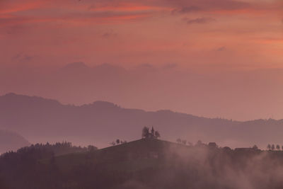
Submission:
[[[15,132],[0,130],[0,154],[6,151],[15,151],[30,145],[28,140]]]

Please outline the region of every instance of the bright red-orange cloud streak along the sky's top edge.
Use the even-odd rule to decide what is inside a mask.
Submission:
[[[134,16],[146,13],[191,13],[255,9],[257,4],[233,0],[157,0],[157,1],[2,1],[0,18],[13,14],[26,17],[57,17],[62,19]],[[263,7],[263,6],[262,6]]]

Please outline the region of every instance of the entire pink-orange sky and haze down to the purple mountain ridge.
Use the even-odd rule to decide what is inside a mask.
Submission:
[[[0,0],[0,94],[281,119],[282,9],[280,0]],[[112,65],[115,76],[60,72],[74,62]]]

